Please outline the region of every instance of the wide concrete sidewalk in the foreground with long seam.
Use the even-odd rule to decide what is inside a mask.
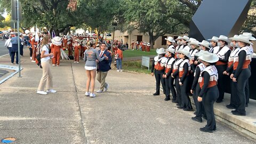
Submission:
[[[155,78],[150,75],[110,70],[109,90],[89,98],[84,95],[84,62],[61,61],[60,67],[51,67],[58,92],[36,94],[42,69],[26,56],[28,50],[24,55],[22,78],[14,75],[0,85],[0,139],[14,137],[16,143],[255,143],[219,122],[214,133],[199,131],[206,121],[192,121],[193,111],[177,109],[175,103],[164,101],[164,95],[153,97]],[[9,65],[9,59],[0,58],[0,64]]]

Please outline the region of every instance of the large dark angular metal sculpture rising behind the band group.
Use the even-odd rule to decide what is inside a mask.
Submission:
[[[190,22],[189,37],[198,41],[238,33],[252,0],[204,0]]]

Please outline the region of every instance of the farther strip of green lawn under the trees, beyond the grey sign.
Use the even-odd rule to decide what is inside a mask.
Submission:
[[[150,52],[143,52],[143,51],[137,51],[137,50],[126,50],[123,51],[123,57],[124,58],[130,58],[130,57],[141,57],[141,56],[149,56],[149,55],[157,55],[156,49],[150,49]]]

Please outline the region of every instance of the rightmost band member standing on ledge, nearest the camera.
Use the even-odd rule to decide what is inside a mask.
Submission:
[[[249,42],[250,38],[246,35],[239,35],[236,38],[233,38],[233,41],[238,43],[240,50],[236,53],[233,64],[233,74],[230,75],[230,78],[233,79],[233,82],[236,82],[236,93],[239,98],[238,107],[236,110],[232,110],[233,115],[245,116],[245,105],[246,105],[246,96],[245,96],[245,85],[249,77],[251,76],[251,71],[249,65],[251,63],[252,55],[250,50],[247,47],[247,44],[252,44]]]

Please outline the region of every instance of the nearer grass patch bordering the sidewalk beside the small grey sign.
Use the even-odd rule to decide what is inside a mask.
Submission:
[[[151,66],[150,66],[151,67]],[[151,70],[147,67],[141,68],[141,60],[138,61],[123,61],[122,68],[124,70],[134,71],[136,73],[151,74]]]

